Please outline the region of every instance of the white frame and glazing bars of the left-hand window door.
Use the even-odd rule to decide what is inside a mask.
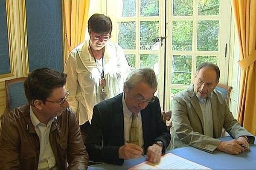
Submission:
[[[125,54],[135,54],[135,67],[140,67],[140,54],[157,54],[158,55],[158,62],[159,62],[159,82],[158,82],[158,97],[160,99],[160,105],[161,108],[163,108],[163,90],[164,90],[164,41],[163,46],[159,46],[159,50],[141,50],[138,48],[138,44],[140,44],[140,22],[141,21],[159,21],[159,34],[158,37],[164,37],[165,36],[165,1],[159,0],[159,16],[157,17],[140,17],[140,0],[136,3],[136,15],[134,17],[117,17],[116,15],[116,9],[119,8],[119,4],[117,3],[120,0],[106,0],[106,6],[107,6],[107,15],[111,18],[112,24],[113,24],[113,31],[112,31],[112,37],[111,41],[117,42],[118,38],[118,25],[117,23],[122,22],[135,22],[136,23],[136,48],[132,50],[125,50]],[[108,8],[109,7],[109,8]],[[108,10],[109,9],[109,10]]]

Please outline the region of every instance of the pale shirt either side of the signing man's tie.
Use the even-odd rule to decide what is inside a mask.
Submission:
[[[122,95],[122,106],[124,111],[124,129],[125,129],[125,143],[130,141],[130,129],[131,129],[131,121],[132,121],[132,114],[131,111],[127,108],[125,103],[125,95]],[[139,138],[139,145],[143,148],[144,140],[143,140],[143,129],[142,129],[142,121],[141,121],[141,113],[137,113],[137,127],[138,127],[138,138]]]

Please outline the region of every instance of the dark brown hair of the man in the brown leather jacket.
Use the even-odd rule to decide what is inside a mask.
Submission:
[[[63,87],[67,74],[49,68],[38,68],[32,71],[24,82],[24,90],[28,102],[33,105],[36,99],[45,102],[52,90]]]

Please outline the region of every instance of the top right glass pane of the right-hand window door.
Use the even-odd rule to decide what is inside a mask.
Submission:
[[[218,15],[219,0],[198,0],[198,15]]]

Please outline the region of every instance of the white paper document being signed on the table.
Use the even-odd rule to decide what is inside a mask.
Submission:
[[[131,167],[130,170],[153,170],[153,169],[165,169],[165,170],[210,170],[210,168],[205,167],[201,164],[189,161],[187,159],[181,158],[172,153],[167,153],[161,157],[159,164],[152,165],[145,161],[141,164],[137,164],[134,167]]]

